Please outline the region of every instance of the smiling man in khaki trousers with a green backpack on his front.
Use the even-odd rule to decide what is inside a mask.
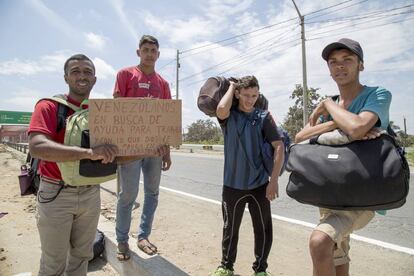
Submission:
[[[95,66],[88,57],[78,54],[65,62],[64,71],[69,86],[65,100],[79,107],[95,85]],[[99,185],[71,186],[63,182],[56,162],[91,159],[108,163],[118,150],[113,145],[64,145],[66,127],[58,127],[59,105],[49,99],[39,101],[29,126],[30,153],[41,159],[36,216],[42,249],[39,275],[86,276],[100,214]],[[69,109],[67,116],[73,113]]]

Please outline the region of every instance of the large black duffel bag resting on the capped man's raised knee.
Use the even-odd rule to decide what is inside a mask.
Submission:
[[[394,138],[345,145],[290,147],[286,192],[297,201],[336,210],[387,210],[404,205],[410,169]]]

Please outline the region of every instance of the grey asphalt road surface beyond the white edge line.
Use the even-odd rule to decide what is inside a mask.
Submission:
[[[223,156],[197,153],[172,153],[173,166],[163,173],[161,185],[171,189],[221,200]],[[411,174],[413,176],[413,174]],[[303,205],[286,195],[288,174],[279,181],[280,197],[272,203],[272,214],[310,223],[318,222],[318,209]],[[413,187],[411,177],[410,187]],[[360,236],[414,249],[414,196],[407,203],[386,216],[376,215],[370,224],[356,232]]]

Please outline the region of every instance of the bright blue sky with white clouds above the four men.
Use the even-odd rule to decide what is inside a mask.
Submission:
[[[362,84],[391,91],[390,119],[414,134],[414,1],[296,0],[305,18],[307,85],[338,94],[322,49],[342,37],[360,42]],[[0,110],[33,111],[67,92],[63,64],[76,53],[96,66],[91,98],[111,98],[118,70],[139,63],[138,40],[160,42],[156,71],[179,98],[183,128],[207,119],[197,108],[208,77],[255,75],[275,120],[283,122],[302,84],[300,21],[292,0],[0,0]]]

